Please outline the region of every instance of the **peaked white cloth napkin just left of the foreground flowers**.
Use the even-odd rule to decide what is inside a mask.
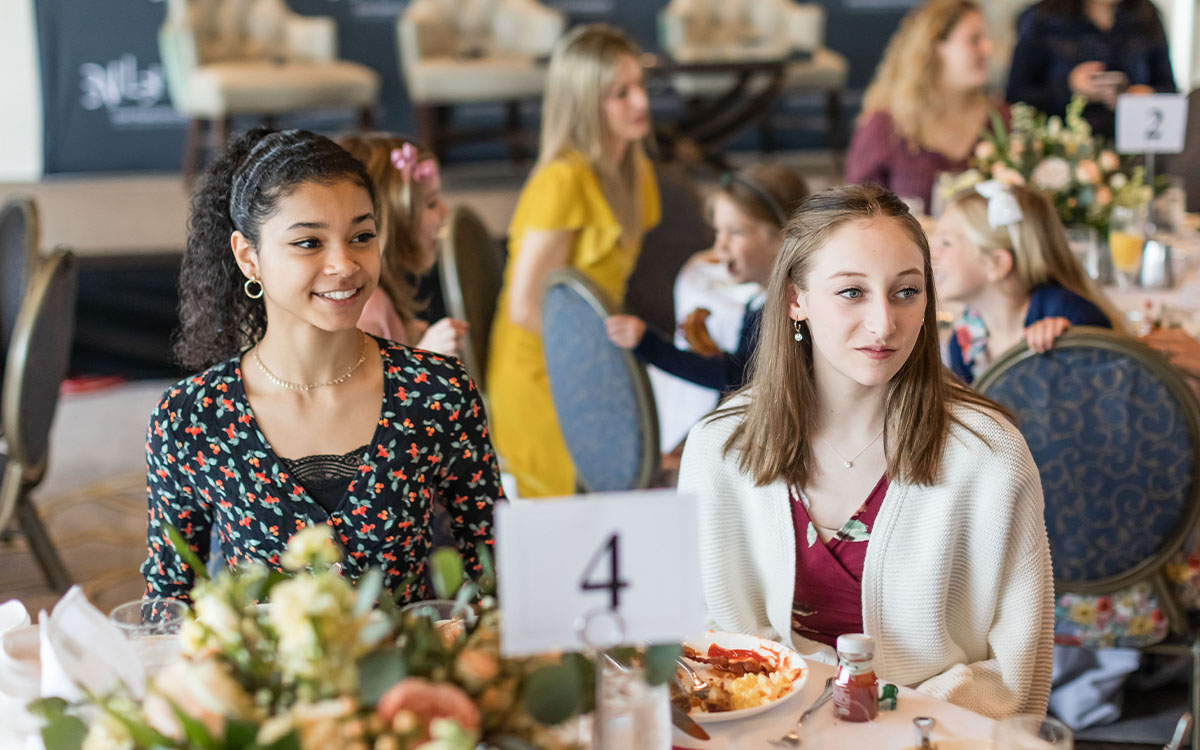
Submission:
[[[109,692],[125,684],[136,698],[145,690],[145,671],[133,646],[83,589],[72,586],[47,617],[38,616],[42,640],[43,697],[68,701]]]

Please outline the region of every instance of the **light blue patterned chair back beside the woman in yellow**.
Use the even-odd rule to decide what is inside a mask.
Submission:
[[[650,486],[659,467],[659,425],[646,370],[608,341],[616,306],[590,278],[554,271],[542,296],[541,337],[558,425],[588,492]]]

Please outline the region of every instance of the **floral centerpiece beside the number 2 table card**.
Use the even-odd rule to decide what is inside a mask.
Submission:
[[[1013,104],[1012,127],[994,113],[991,130],[976,146],[970,168],[941,185],[943,198],[984,180],[1030,185],[1054,200],[1066,226],[1087,224],[1108,233],[1114,205],[1147,203],[1152,191],[1141,167],[1117,155],[1084,119],[1086,101],[1075,97],[1066,118]]]

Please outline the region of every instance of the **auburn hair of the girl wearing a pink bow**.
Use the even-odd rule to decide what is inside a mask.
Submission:
[[[412,143],[392,133],[361,133],[344,136],[338,144],[367,168],[379,194],[376,233],[379,238],[379,288],[391,300],[404,325],[416,319],[424,306],[416,299],[416,262],[421,248],[416,244],[416,227],[425,210],[425,187],[404,175],[391,163],[391,152]],[[432,151],[416,144],[419,161],[436,158]]]

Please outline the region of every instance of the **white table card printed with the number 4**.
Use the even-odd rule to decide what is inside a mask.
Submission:
[[[497,506],[505,655],[580,650],[588,614],[619,614],[625,643],[703,630],[697,533],[695,498],[670,490]]]

